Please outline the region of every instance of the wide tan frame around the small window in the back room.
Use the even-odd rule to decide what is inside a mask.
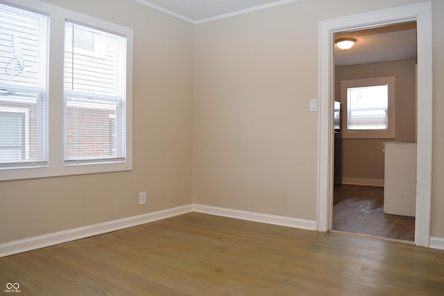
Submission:
[[[385,130],[348,130],[348,100],[347,90],[352,87],[368,87],[375,85],[388,86],[387,129]],[[396,112],[395,112],[395,76],[364,78],[341,81],[342,112],[342,139],[395,139]]]

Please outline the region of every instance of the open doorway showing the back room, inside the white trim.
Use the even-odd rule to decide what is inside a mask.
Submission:
[[[414,241],[416,186],[384,188],[384,166],[393,163],[384,148],[416,147],[416,35],[416,21],[334,34],[335,42],[355,44],[334,46],[341,124],[334,128],[332,230]],[[406,158],[415,164],[407,174],[414,181],[416,155]]]

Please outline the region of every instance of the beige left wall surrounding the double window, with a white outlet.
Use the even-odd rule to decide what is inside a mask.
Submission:
[[[193,26],[132,0],[46,2],[133,28],[133,171],[0,182],[0,242],[189,204]]]

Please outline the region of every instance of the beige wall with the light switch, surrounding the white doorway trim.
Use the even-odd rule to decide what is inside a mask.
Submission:
[[[319,21],[402,0],[300,0],[196,26],[194,202],[316,220]],[[444,12],[434,15],[434,112],[444,117]],[[434,119],[432,236],[444,237],[444,139]],[[442,125],[442,124],[441,124]],[[437,163],[437,161],[440,161]],[[375,174],[376,175],[376,174]],[[441,211],[435,210],[435,207]]]

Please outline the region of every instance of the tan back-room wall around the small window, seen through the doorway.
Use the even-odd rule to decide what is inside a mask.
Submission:
[[[416,60],[336,67],[335,100],[341,101],[341,81],[395,76],[396,139],[342,139],[342,176],[384,180],[386,141],[416,141]]]

